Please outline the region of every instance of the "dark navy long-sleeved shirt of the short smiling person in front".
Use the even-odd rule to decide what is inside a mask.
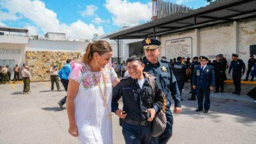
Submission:
[[[155,94],[155,96],[153,96]],[[148,78],[140,88],[137,79],[127,77],[121,81],[113,89],[112,96],[112,112],[116,113],[118,109],[118,100],[123,98],[123,111],[127,113],[127,117],[131,120],[146,120],[146,110],[153,108],[158,110],[163,108],[163,97],[158,83],[156,82],[155,92],[152,91]],[[154,99],[153,99],[154,98]]]

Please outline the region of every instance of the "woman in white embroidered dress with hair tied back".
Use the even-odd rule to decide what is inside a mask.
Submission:
[[[106,41],[87,46],[83,62],[70,62],[67,96],[68,132],[81,143],[112,144],[112,86],[119,80],[110,65],[112,48]]]

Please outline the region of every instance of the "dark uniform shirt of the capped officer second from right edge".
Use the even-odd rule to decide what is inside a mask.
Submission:
[[[232,60],[230,67],[228,69],[228,73],[230,73],[232,69],[233,73],[244,73],[245,72],[245,64],[243,60],[238,59],[236,61]]]

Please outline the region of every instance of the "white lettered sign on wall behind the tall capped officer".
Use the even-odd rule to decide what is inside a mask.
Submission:
[[[167,59],[192,57],[192,37],[172,39],[165,41],[165,56]]]

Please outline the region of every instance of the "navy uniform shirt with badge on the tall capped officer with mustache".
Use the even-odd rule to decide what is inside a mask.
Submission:
[[[181,95],[169,62],[158,60],[157,63],[150,63],[148,60],[144,60],[143,63],[145,64],[143,71],[156,77],[168,101],[171,103],[172,96],[175,101],[175,107],[181,107]]]

